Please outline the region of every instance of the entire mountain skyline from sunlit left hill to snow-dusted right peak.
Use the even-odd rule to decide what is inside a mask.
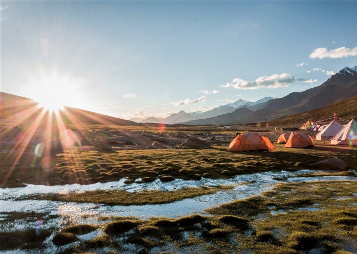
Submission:
[[[357,66],[352,68],[345,67],[332,75],[321,85],[302,92],[293,92],[282,98],[266,97],[257,102],[240,99],[234,103],[219,106],[207,112],[186,113],[185,111],[179,111],[164,119],[147,118],[144,122],[155,123],[155,121],[158,121],[159,123],[165,124],[179,123],[185,125],[233,125],[254,122],[273,122],[272,120],[280,118],[283,122],[297,124],[302,122],[301,117],[297,117],[298,115],[288,118],[282,117],[317,108],[322,108],[321,110],[323,110],[323,108],[328,108],[328,105],[338,105],[338,103],[340,103],[338,110],[340,114],[343,115],[346,113],[344,111],[347,110],[343,104],[346,104],[346,99],[356,98],[353,96],[357,96]],[[355,109],[352,108],[351,110],[352,113],[349,112],[354,114]],[[321,120],[317,119],[319,114],[315,111],[313,112],[313,114],[316,115],[315,121]],[[348,116],[350,116],[350,113]],[[300,115],[303,116],[303,114]],[[42,121],[39,116],[42,117]],[[143,123],[136,123],[134,121],[73,107],[65,107],[63,110],[60,110],[59,117],[64,123],[143,126]],[[321,117],[323,117],[323,115],[321,115]],[[41,123],[45,123],[46,119],[57,121],[55,118],[50,118],[49,112],[44,113],[43,109],[41,109],[34,100],[0,92],[1,123],[31,126],[36,122],[36,119],[40,119],[39,122]],[[296,119],[296,123],[294,119]],[[307,120],[309,120],[309,117],[306,115],[304,121]]]

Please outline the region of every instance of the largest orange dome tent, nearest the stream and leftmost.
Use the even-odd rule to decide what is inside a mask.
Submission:
[[[229,145],[228,151],[256,151],[256,150],[275,150],[267,137],[246,132],[238,135]]]

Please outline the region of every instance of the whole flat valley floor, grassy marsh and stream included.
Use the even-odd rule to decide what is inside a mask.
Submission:
[[[278,143],[284,130],[255,125],[69,129],[87,138],[105,136],[112,147],[98,149],[83,138],[82,146],[52,151],[45,171],[44,160],[33,156],[21,158],[11,174],[2,169],[2,252],[357,249],[357,212],[346,205],[356,202],[357,148],[316,140],[318,131],[290,131],[289,138],[313,137],[313,146],[309,139],[307,148],[289,148]],[[227,151],[237,132],[243,133],[238,138],[253,137],[245,141],[250,152]],[[262,136],[264,146],[251,149]],[[201,143],[182,145],[189,137]],[[1,144],[5,168],[16,159],[12,146]],[[24,152],[33,153],[35,143],[30,147]],[[315,164],[330,158],[345,165]]]

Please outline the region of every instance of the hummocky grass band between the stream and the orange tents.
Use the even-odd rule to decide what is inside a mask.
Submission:
[[[89,129],[86,129],[89,128]],[[128,129],[129,127],[125,127]],[[135,131],[135,127],[132,131]],[[189,127],[199,130],[201,127]],[[203,127],[202,127],[203,128]],[[210,127],[215,129],[216,127]],[[250,128],[250,127],[245,127]],[[94,131],[103,129],[103,126],[83,126],[89,136]],[[143,127],[143,132],[152,130],[152,127]],[[170,127],[170,131],[182,130],[182,127]],[[205,131],[208,131],[205,129]],[[213,132],[222,131],[221,135],[228,135],[233,130],[217,128]],[[120,127],[110,127],[112,135],[123,135],[130,130],[122,131]],[[199,131],[201,132],[201,131]],[[211,131],[211,133],[213,133]],[[314,135],[315,133],[310,133]],[[159,135],[152,133],[151,135]],[[265,133],[274,140],[277,132]],[[229,136],[227,136],[228,138]],[[232,135],[233,137],[233,135]],[[230,138],[229,138],[230,140]],[[160,175],[169,175],[173,178],[199,180],[201,177],[219,179],[229,178],[239,174],[255,172],[298,170],[315,168],[312,164],[329,157],[343,159],[350,168],[357,164],[357,148],[341,149],[338,147],[319,144],[312,149],[284,148],[284,144],[275,144],[277,151],[263,153],[235,153],[227,152],[229,140],[213,144],[212,149],[130,149],[112,152],[99,152],[94,148],[74,147],[69,151],[58,151],[51,157],[50,169],[42,168],[42,158],[21,157],[17,166],[11,168],[17,153],[0,153],[0,179],[6,179],[2,187],[23,187],[23,183],[30,184],[92,184],[98,182],[117,181],[121,178],[135,180],[145,178],[148,182]],[[32,149],[32,148],[31,148]],[[180,171],[183,169],[182,171]],[[327,169],[327,168],[321,168]],[[152,178],[151,178],[152,177]],[[20,179],[20,180],[17,180]],[[162,178],[162,181],[172,178]]]

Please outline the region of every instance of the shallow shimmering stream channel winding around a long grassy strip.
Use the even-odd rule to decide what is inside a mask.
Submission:
[[[201,181],[185,181],[176,179],[170,183],[162,183],[156,180],[153,183],[141,183],[127,185],[125,179],[117,182],[97,183],[92,185],[64,185],[64,186],[39,186],[27,185],[25,188],[0,189],[0,212],[45,212],[58,215],[75,216],[138,216],[148,218],[151,216],[178,217],[192,213],[204,212],[205,209],[231,202],[235,199],[243,199],[252,195],[259,195],[263,191],[270,190],[278,182],[303,182],[321,180],[351,180],[353,177],[346,176],[324,176],[324,177],[294,177],[296,174],[313,172],[314,170],[299,170],[296,172],[265,172],[247,175],[238,175],[230,179],[202,179]],[[273,180],[272,178],[286,177],[287,180]],[[187,198],[174,203],[159,205],[141,206],[108,206],[103,204],[58,202],[45,200],[22,200],[16,201],[23,195],[36,193],[66,193],[67,191],[92,191],[92,190],[113,190],[124,189],[127,191],[140,190],[166,190],[173,191],[186,187],[217,186],[219,184],[234,185],[239,183],[252,182],[239,185],[232,190],[219,191],[214,194],[204,195],[195,198]]]

